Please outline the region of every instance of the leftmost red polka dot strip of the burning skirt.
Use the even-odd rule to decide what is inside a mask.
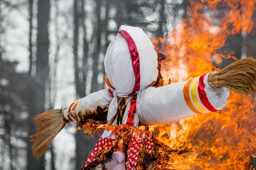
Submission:
[[[91,152],[89,157],[87,157],[84,166],[87,166],[91,162],[95,161],[95,159],[97,159],[97,157],[99,156],[100,152],[102,152],[105,147],[107,150],[110,149],[113,146],[114,142],[115,139],[101,137],[100,140],[97,142],[96,146],[93,148],[93,151]]]

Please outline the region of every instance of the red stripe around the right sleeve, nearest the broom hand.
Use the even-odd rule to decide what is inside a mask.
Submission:
[[[209,102],[206,92],[204,91],[205,85],[204,85],[204,77],[206,76],[206,74],[200,76],[199,78],[199,83],[198,83],[198,94],[200,97],[200,100],[202,102],[202,104],[204,104],[204,106],[210,110],[211,112],[216,112],[218,110],[216,110]]]

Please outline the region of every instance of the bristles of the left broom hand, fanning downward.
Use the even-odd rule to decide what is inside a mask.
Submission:
[[[63,121],[61,109],[43,112],[33,117],[32,121],[36,125],[37,133],[30,136],[30,141],[34,142],[31,148],[38,159],[46,152],[52,140],[67,123]]]

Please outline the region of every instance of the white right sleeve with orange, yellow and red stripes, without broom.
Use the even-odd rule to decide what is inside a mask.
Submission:
[[[229,89],[210,87],[208,75],[163,87],[149,87],[138,93],[137,113],[141,123],[168,123],[223,108]]]

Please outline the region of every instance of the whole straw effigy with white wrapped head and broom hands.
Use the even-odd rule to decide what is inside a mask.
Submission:
[[[103,132],[82,170],[175,169],[175,156],[193,150],[160,141],[150,125],[217,112],[227,104],[230,89],[240,95],[256,92],[252,58],[169,85],[163,85],[163,60],[165,55],[156,53],[141,28],[121,26],[104,60],[108,89],[33,118],[37,125],[37,134],[30,136],[34,155],[43,155],[65,124],[74,121],[89,136]]]

